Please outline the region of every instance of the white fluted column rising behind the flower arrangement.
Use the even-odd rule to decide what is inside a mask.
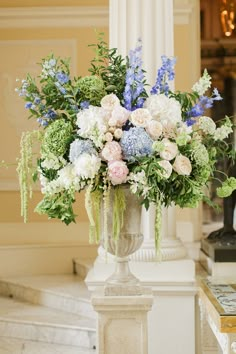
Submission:
[[[155,83],[161,56],[174,55],[173,0],[110,0],[110,48],[118,48],[123,56],[129,53],[138,38],[143,43],[143,67],[147,83]],[[186,250],[176,239],[175,207],[163,208],[161,258],[181,259]],[[156,260],[154,241],[155,206],[143,210],[144,243],[131,259]]]

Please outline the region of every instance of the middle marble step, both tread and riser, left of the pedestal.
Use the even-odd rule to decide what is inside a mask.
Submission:
[[[95,321],[84,316],[0,297],[0,336],[92,349]]]

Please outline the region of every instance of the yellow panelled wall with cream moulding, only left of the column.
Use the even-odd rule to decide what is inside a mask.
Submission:
[[[23,79],[27,72],[37,76],[40,68],[36,63],[50,52],[71,57],[72,75],[86,75],[93,57],[88,44],[96,42],[95,29],[104,32],[108,41],[108,1],[0,1],[0,161],[15,162],[22,131],[38,127],[33,120],[28,121],[24,101],[14,91],[16,78]],[[8,247],[13,247],[16,254],[14,247],[25,252],[31,245],[36,252],[38,247],[45,250],[51,245],[47,250],[49,259],[49,253],[55,253],[53,247],[61,245],[70,258],[94,257],[96,247],[87,246],[88,219],[83,195],[78,195],[75,205],[79,224],[66,226],[33,212],[41,199],[36,190],[29,205],[29,222],[24,224],[15,167],[0,169],[0,274],[3,259],[7,264]]]

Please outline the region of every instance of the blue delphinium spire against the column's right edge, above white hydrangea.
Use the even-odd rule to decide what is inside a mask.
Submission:
[[[162,66],[158,69],[156,83],[151,89],[151,94],[164,93],[168,94],[170,87],[168,81],[174,80],[175,72],[174,66],[176,63],[176,58],[168,58],[165,55],[162,55]]]

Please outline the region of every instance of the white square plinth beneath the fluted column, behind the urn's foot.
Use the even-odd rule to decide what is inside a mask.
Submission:
[[[102,289],[115,264],[96,260],[85,282],[90,291]],[[130,262],[131,272],[154,295],[148,314],[148,354],[195,353],[195,265],[182,259],[165,262]],[[129,299],[125,297],[129,304]],[[115,296],[112,297],[113,301]],[[111,300],[112,301],[112,300]],[[180,325],[181,322],[181,325]],[[102,322],[100,322],[101,329]],[[172,340],[170,340],[170,337]],[[123,353],[120,351],[120,353]],[[135,351],[130,351],[135,353]]]

